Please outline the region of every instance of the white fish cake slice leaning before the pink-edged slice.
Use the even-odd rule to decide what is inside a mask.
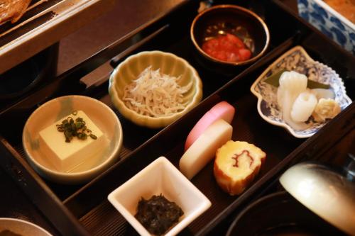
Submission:
[[[233,127],[224,120],[216,120],[187,149],[180,159],[180,172],[192,179],[210,162],[217,149],[231,140]]]

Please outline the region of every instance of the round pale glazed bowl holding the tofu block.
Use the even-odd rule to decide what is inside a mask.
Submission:
[[[84,111],[107,137],[107,147],[94,157],[86,159],[70,172],[60,172],[43,154],[39,132],[72,111]],[[62,96],[38,107],[23,128],[23,149],[26,158],[38,174],[62,184],[80,184],[97,176],[119,157],[123,133],[119,118],[106,104],[88,96]],[[64,142],[64,140],[63,140]]]

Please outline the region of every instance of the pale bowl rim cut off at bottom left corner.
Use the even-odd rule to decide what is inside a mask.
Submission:
[[[18,235],[52,236],[42,227],[16,218],[0,218],[0,232],[5,230],[9,230]]]

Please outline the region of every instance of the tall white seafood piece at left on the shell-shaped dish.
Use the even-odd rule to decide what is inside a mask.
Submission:
[[[285,123],[288,123],[295,130],[305,130],[308,125],[294,121],[291,118],[291,109],[297,96],[307,89],[307,77],[297,72],[283,72],[278,86],[278,106],[282,110]]]

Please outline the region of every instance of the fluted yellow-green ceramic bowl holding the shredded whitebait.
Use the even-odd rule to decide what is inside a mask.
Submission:
[[[153,70],[160,69],[163,74],[169,74],[174,77],[181,76],[178,81],[180,86],[186,86],[193,82],[191,89],[183,94],[183,103],[187,103],[183,111],[174,113],[171,116],[158,118],[143,116],[129,109],[124,104],[124,101],[121,100],[124,96],[124,87],[131,84],[133,80],[138,79],[139,74],[150,66]],[[109,94],[114,106],[128,120],[136,123],[136,125],[148,128],[163,128],[183,116],[201,101],[202,82],[196,70],[181,57],[160,51],[139,52],[128,57],[114,69],[109,79]]]

